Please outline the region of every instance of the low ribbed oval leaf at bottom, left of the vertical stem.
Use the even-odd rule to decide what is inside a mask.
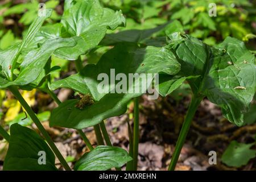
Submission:
[[[119,147],[97,146],[84,154],[75,164],[76,171],[106,171],[114,167],[122,167],[132,160],[126,150]]]

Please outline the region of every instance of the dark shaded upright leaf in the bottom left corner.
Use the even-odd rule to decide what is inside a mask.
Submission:
[[[46,164],[39,164],[45,152]],[[46,142],[35,131],[27,127],[14,124],[11,126],[11,137],[4,170],[56,170],[55,155]]]

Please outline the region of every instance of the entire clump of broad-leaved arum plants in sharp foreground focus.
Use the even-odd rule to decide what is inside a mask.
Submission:
[[[50,10],[47,12],[48,17]],[[239,40],[229,37],[218,46],[209,47],[196,38],[176,32],[168,34],[167,46],[156,47],[152,46],[152,42],[144,42],[144,39],[163,27],[147,31],[125,31],[107,36],[112,37],[113,41],[105,39],[101,44],[113,45],[114,48],[106,52],[97,64],[83,67],[80,56],[101,42],[107,28],[114,29],[125,23],[122,13],[102,8],[96,0],[77,0],[65,1],[61,23],[41,27],[45,18],[38,17],[31,24],[22,43],[0,52],[0,88],[8,88],[13,92],[38,126],[49,147],[38,134],[26,127],[14,124],[11,126],[10,135],[0,127],[0,134],[10,143],[4,169],[56,169],[54,154],[66,170],[70,169],[18,88],[37,88],[49,93],[59,104],[51,113],[50,126],[79,131],[90,152],[77,161],[75,170],[119,169],[127,162],[127,170],[137,169],[138,97],[147,88],[140,84],[140,77],[135,77],[134,84],[121,85],[127,90],[135,90],[139,86],[140,92],[112,93],[112,86],[120,84],[120,78],[108,82],[109,92],[98,92],[98,85],[102,82],[98,75],[105,73],[110,78],[113,69],[115,75],[122,73],[126,78],[130,73],[159,74],[159,84],[155,88],[158,88],[157,91],[162,96],[170,94],[185,80],[189,82],[193,96],[172,156],[169,167],[171,170],[176,166],[193,115],[204,97],[220,106],[230,122],[238,126],[244,124],[243,113],[255,93],[256,68],[254,55]],[[126,35],[126,38],[122,39],[120,35]],[[56,69],[49,67],[51,55],[75,60],[78,73],[51,83],[48,75]],[[154,82],[154,79],[152,77],[147,81]],[[61,103],[52,92],[58,88],[79,92],[82,94],[81,99]],[[125,113],[131,99],[134,99],[135,118],[133,137],[129,130],[128,154],[122,148],[112,146],[104,119]],[[96,148],[93,148],[81,130],[90,126],[94,126],[96,131],[99,144]],[[108,146],[103,146],[104,140]],[[45,165],[39,164],[40,151],[44,151],[47,156],[46,162],[42,161]]]

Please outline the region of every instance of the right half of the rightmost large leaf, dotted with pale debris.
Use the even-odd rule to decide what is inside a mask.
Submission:
[[[208,99],[221,107],[229,121],[243,125],[256,88],[255,57],[240,40],[226,38],[214,49],[214,62],[205,81]]]

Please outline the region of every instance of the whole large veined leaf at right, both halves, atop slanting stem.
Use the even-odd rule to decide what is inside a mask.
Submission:
[[[230,122],[243,125],[243,114],[248,110],[256,88],[254,55],[243,42],[230,37],[212,49],[188,35],[172,34],[169,37],[168,47],[181,64],[180,79],[187,77],[194,94],[207,96],[221,107]],[[163,96],[170,93],[168,88],[173,90],[173,82],[174,79],[160,82]]]

